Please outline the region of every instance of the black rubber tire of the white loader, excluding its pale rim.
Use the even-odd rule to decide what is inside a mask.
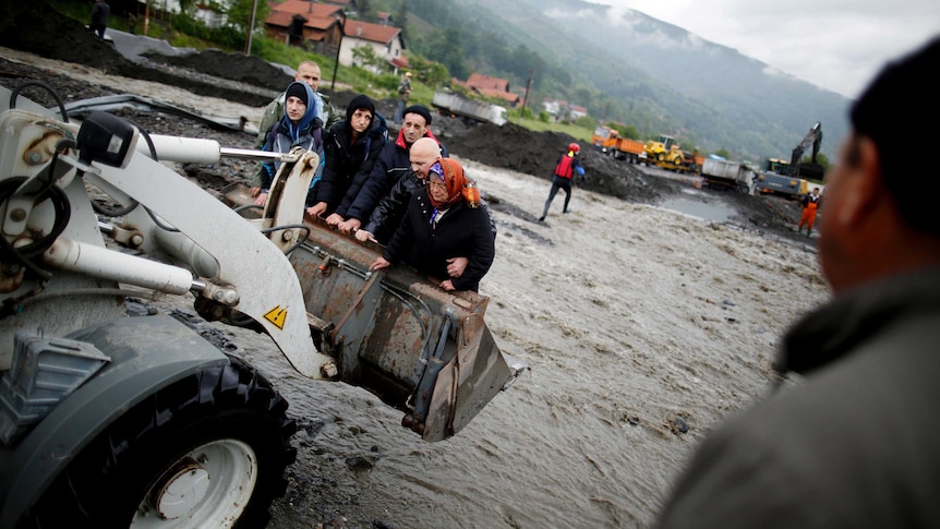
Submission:
[[[138,506],[165,474],[179,470],[183,461],[196,464],[192,458],[198,458],[198,450],[218,444],[248,446],[254,454],[249,459],[256,480],[253,488],[249,481],[238,482],[239,490],[250,491],[245,492],[250,498],[232,516],[233,527],[266,526],[272,502],[287,489],[284,471],[297,457],[290,446],[297,425],[287,418],[287,401],[254,368],[230,360],[229,365],[205,369],[149,395],[121,416],[57,477],[20,526],[128,527],[135,515],[144,515]],[[198,462],[210,467],[207,460]],[[212,489],[216,477],[209,478]],[[200,505],[209,508],[214,503]],[[220,527],[213,515],[159,520],[150,508],[146,516],[166,527]]]

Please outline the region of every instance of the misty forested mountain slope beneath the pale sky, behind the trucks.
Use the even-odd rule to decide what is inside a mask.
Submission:
[[[578,85],[603,93],[606,103],[586,105],[596,119],[752,160],[788,159],[817,121],[822,152],[834,160],[847,133],[848,98],[638,11],[615,16],[606,5],[580,0],[455,3],[467,10],[465,20],[486,20],[487,31],[510,46],[533,49],[550,71],[570,74],[568,93],[552,94],[543,82],[544,95],[585,105],[579,94],[590,98]]]

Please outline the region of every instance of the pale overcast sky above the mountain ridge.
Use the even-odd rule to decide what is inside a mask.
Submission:
[[[630,8],[856,98],[881,67],[940,36],[940,0],[593,0]]]

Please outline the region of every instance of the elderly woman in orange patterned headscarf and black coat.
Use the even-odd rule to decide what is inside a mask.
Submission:
[[[369,267],[386,268],[403,261],[441,281],[444,290],[473,290],[490,270],[496,254],[490,216],[480,207],[480,193],[463,168],[437,158],[425,179],[425,191],[414,193],[408,211],[383,255]],[[467,256],[459,277],[447,277],[447,263]]]

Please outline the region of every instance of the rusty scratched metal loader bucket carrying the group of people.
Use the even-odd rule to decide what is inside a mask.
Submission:
[[[225,192],[250,204],[242,185]],[[370,273],[382,247],[306,218],[306,241],[288,259],[297,272],[317,349],[337,378],[405,412],[425,441],[459,432],[526,366],[499,351],[483,320],[489,298],[446,292],[406,265]]]

